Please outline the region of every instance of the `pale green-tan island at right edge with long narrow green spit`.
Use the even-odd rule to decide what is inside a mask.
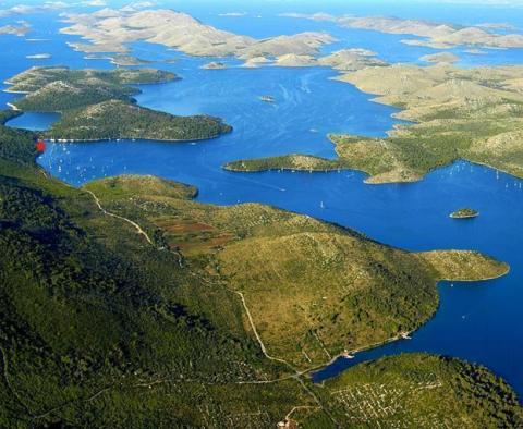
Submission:
[[[366,183],[419,181],[429,171],[458,159],[486,164],[523,177],[522,66],[460,69],[394,64],[367,66],[338,77],[374,101],[400,109],[387,137],[329,135],[338,155],[305,154],[238,160],[233,171],[289,169],[361,170]]]

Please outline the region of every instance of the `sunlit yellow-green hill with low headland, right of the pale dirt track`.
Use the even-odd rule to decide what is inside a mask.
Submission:
[[[111,177],[85,188],[159,245],[205,257],[208,272],[242,293],[269,353],[301,369],[416,329],[437,308],[440,279],[481,280],[508,270],[476,253],[411,254],[267,206],[149,194],[155,179],[147,181],[142,187],[141,176]],[[133,183],[134,193],[120,191]]]

